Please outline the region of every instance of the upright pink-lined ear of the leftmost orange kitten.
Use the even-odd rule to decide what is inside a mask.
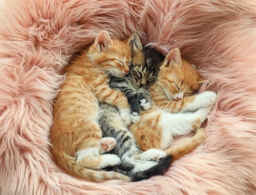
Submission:
[[[95,47],[98,52],[101,52],[103,49],[111,46],[112,44],[113,40],[111,39],[110,34],[108,34],[107,31],[100,31],[95,39]]]

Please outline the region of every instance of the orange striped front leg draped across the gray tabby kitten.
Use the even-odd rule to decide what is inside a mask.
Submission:
[[[106,103],[117,107],[125,124],[131,124],[130,105],[122,92],[110,89],[108,85],[97,86],[93,92],[100,103]]]

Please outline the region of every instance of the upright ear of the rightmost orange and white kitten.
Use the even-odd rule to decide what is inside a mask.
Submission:
[[[178,48],[172,49],[164,58],[163,68],[177,66],[182,67],[182,58]]]

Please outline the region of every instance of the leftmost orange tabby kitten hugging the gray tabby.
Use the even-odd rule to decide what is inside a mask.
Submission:
[[[107,31],[101,31],[92,46],[77,55],[66,68],[66,80],[53,107],[51,154],[65,172],[78,178],[131,180],[118,172],[95,170],[120,163],[117,155],[104,154],[115,147],[116,140],[102,138],[98,125],[99,103],[117,107],[125,124],[131,123],[127,98],[108,86],[108,74],[115,77],[128,74],[131,62],[129,41],[112,39]]]

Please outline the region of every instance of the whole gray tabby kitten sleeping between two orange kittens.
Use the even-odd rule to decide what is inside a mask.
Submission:
[[[134,52],[136,52],[138,46],[141,51],[141,43],[135,42]],[[154,49],[144,48],[143,54],[141,64],[138,63],[140,61],[136,61],[137,65],[131,65],[128,76],[123,78],[111,77],[109,84],[110,88],[125,93],[131,105],[134,122],[140,118],[141,109],[148,110],[151,107],[149,92],[142,87],[148,88],[155,82],[160,67],[159,64],[164,61],[164,56]],[[137,83],[134,83],[134,81],[137,81]],[[133,181],[140,181],[153,175],[159,175],[170,166],[172,157],[166,155],[164,151],[155,148],[147,151],[140,150],[133,134],[122,121],[116,107],[109,104],[101,104],[100,106],[102,113],[99,124],[103,136],[112,136],[116,139],[116,147],[113,148],[111,153],[117,154],[121,159],[119,166],[113,170],[123,174],[134,172],[133,175],[129,176],[133,178]]]

